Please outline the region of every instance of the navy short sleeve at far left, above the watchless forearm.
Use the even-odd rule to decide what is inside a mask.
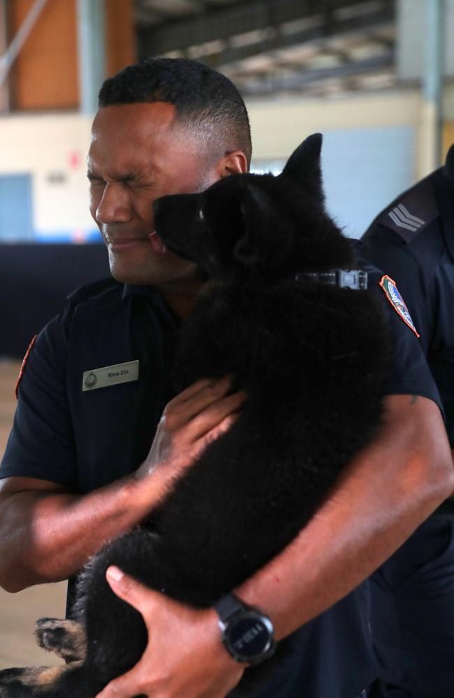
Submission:
[[[66,396],[61,316],[38,335],[20,380],[17,409],[0,477],[36,477],[75,487],[75,447]]]

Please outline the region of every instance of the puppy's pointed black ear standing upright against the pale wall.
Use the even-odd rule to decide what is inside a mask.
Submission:
[[[320,164],[322,141],[321,133],[309,135],[288,158],[284,170],[279,175],[298,184],[321,205],[325,202]]]

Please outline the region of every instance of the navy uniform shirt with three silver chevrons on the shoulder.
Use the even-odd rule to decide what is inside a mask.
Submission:
[[[364,254],[402,292],[437,383],[454,447],[454,145],[446,164],[370,225]],[[444,505],[454,512],[454,503]]]

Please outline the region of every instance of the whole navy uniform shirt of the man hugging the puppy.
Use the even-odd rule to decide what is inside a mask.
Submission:
[[[386,393],[439,403],[416,335],[379,288],[380,272],[365,268],[394,339]],[[171,397],[166,357],[176,324],[152,288],[106,280],[69,297],[31,350],[0,477],[38,477],[83,494],[138,468]],[[82,391],[86,371],[135,359],[138,380]],[[375,678],[367,621],[361,586],[298,630],[291,661],[248,698],[353,697]]]

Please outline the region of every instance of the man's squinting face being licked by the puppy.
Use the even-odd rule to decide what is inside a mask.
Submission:
[[[168,253],[154,232],[155,199],[200,191],[218,179],[215,163],[207,165],[174,120],[175,107],[164,102],[102,107],[94,119],[90,213],[118,281],[177,290],[197,278],[196,267]]]

